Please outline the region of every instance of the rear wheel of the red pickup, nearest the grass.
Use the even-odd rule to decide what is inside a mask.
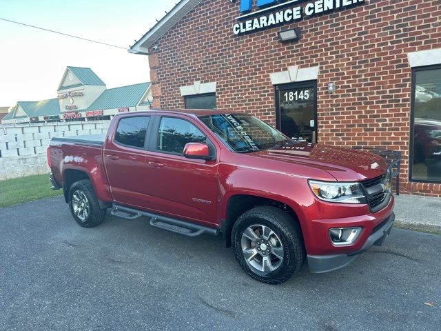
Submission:
[[[76,197],[79,195],[83,197],[81,194],[84,194],[86,199],[85,201],[88,204],[87,214],[76,214],[75,210],[78,210],[78,208],[76,208],[78,203],[74,201],[74,194],[76,194]],[[99,202],[98,199],[96,199],[94,187],[88,179],[76,181],[70,187],[69,208],[76,223],[79,223],[79,225],[81,225],[83,228],[93,228],[94,226],[100,225],[103,223],[107,213],[107,208],[102,209],[99,207]]]

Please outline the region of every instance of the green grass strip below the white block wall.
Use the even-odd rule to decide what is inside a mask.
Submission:
[[[63,190],[54,191],[51,186],[48,174],[0,181],[0,208],[63,194]]]

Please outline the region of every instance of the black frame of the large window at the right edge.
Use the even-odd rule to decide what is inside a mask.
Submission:
[[[412,76],[411,76],[411,123],[410,123],[410,132],[409,132],[409,183],[433,183],[439,184],[441,183],[441,179],[412,179],[413,176],[413,156],[414,156],[414,146],[415,146],[415,92],[416,92],[416,73],[419,71],[428,71],[428,70],[440,70],[441,64],[436,64],[433,66],[422,66],[422,67],[414,67],[412,68]]]

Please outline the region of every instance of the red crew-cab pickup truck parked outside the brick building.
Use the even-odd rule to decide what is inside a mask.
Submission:
[[[305,259],[311,272],[342,268],[382,245],[395,219],[381,157],[295,142],[244,113],[116,115],[105,136],[52,138],[48,163],[79,225],[99,225],[111,208],[190,237],[222,234],[265,283]]]

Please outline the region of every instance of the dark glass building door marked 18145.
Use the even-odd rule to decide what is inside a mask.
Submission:
[[[289,138],[317,143],[317,81],[276,86],[276,124]]]

